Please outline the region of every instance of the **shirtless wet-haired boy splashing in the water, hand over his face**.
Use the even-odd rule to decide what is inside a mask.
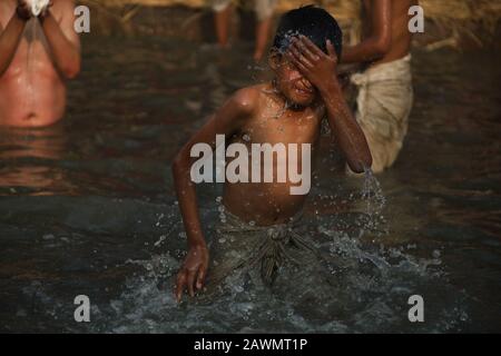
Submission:
[[[308,248],[297,235],[291,234],[289,224],[296,221],[310,190],[296,178],[311,167],[322,119],[327,119],[352,170],[362,172],[371,167],[364,134],[336,78],[341,48],[341,29],[325,10],[310,6],[285,13],[268,57],[274,80],[235,92],[176,156],[173,172],[188,239],[188,254],[175,287],[178,300],[184,290],[194,296],[195,290],[203,288],[207,274],[218,275],[216,266],[236,269],[242,265],[228,258],[216,264],[216,244],[210,247],[209,259],[195,191],[195,184],[200,181],[196,172],[204,147],[210,147],[216,156],[218,149],[227,148],[223,167],[226,168],[224,229],[233,234],[228,243],[253,240],[256,248],[248,258],[261,266],[265,281],[273,281],[285,257],[291,257],[288,245],[294,245],[294,250]],[[218,144],[225,147],[217,147]],[[266,150],[259,147],[272,147],[272,159],[256,157]],[[310,179],[304,175],[303,178]],[[294,189],[298,185],[302,188]]]

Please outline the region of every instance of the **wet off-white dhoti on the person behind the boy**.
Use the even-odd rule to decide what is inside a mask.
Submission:
[[[356,120],[367,139],[372,170],[393,165],[407,132],[413,103],[411,55],[353,75],[358,87]]]

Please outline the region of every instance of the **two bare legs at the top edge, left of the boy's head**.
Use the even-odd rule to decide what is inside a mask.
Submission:
[[[228,26],[233,11],[233,3],[238,0],[209,0],[215,14],[216,34],[219,46],[228,46]],[[266,51],[266,44],[271,37],[272,17],[277,0],[240,0],[240,2],[250,2],[257,17],[256,26],[256,47],[254,50],[254,60],[259,61]]]

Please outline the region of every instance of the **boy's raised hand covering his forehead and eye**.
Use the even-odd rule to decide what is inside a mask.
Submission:
[[[335,80],[337,56],[330,40],[326,43],[328,55],[325,55],[308,38],[295,38],[287,50],[287,58],[301,73],[317,89],[327,87],[330,80]]]

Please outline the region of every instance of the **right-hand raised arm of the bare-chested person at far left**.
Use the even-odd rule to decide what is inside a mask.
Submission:
[[[72,79],[80,72],[80,39],[73,28],[75,2],[58,1],[56,6],[57,11],[49,8],[40,21],[55,66],[65,78]],[[60,22],[53,13],[61,13]]]

